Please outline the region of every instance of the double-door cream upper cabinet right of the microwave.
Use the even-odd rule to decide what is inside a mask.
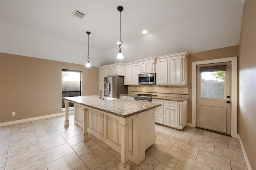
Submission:
[[[157,57],[156,85],[187,85],[188,53]]]

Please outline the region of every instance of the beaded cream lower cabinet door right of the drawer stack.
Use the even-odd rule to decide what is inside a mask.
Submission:
[[[179,129],[179,119],[178,108],[164,106],[164,125]]]

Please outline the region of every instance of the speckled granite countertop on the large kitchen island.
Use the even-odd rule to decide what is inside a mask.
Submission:
[[[161,106],[161,104],[140,102],[135,100],[102,100],[99,98],[99,96],[96,95],[66,97],[63,99],[68,100],[72,103],[81,104],[86,107],[91,107],[93,109],[104,111],[106,113],[110,113],[124,118]]]

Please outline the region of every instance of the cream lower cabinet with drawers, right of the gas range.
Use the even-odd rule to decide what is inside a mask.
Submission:
[[[162,106],[156,108],[156,123],[175,129],[183,129],[187,125],[187,101],[176,102],[152,99],[152,102],[162,104]]]

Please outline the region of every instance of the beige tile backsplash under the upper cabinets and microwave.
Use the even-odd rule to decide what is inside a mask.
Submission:
[[[128,86],[128,93],[188,98],[188,86],[157,86],[155,84]]]

